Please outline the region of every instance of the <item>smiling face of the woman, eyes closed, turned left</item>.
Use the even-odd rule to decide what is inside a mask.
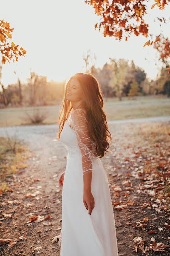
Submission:
[[[82,99],[81,85],[76,78],[71,79],[70,84],[66,86],[65,97],[71,102],[79,102]]]

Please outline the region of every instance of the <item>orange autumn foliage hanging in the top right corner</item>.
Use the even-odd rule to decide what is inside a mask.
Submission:
[[[153,8],[163,10],[170,3],[170,0],[154,1],[150,10]],[[95,24],[95,29],[100,31],[103,28],[104,37],[107,35],[114,36],[119,41],[122,38],[125,38],[127,41],[131,34],[149,37],[150,40],[143,47],[153,45],[158,50],[160,59],[166,64],[167,69],[170,70],[167,64],[167,60],[170,57],[170,41],[168,38],[164,38],[162,34],[153,35],[149,33],[149,24],[145,21],[146,16],[144,16],[149,10],[147,2],[145,0],[85,0],[85,3],[93,6],[95,13],[101,17],[101,21]],[[164,18],[157,18],[160,24],[162,22],[166,23]]]

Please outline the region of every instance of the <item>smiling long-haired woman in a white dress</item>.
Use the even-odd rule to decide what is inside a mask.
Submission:
[[[71,76],[59,115],[60,140],[68,150],[62,186],[60,256],[118,256],[108,178],[99,158],[108,131],[99,82],[88,73]]]

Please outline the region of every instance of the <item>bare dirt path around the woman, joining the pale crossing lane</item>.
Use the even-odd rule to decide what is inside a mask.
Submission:
[[[109,130],[113,136],[113,150],[103,157],[102,163],[108,173],[110,186],[122,186],[122,181],[129,172],[122,157],[129,157],[134,153],[130,145],[140,143],[133,140],[133,131],[139,128],[141,122],[169,121],[169,117],[157,119],[143,119],[108,122]],[[33,156],[28,159],[28,168],[14,177],[13,191],[1,197],[1,238],[17,239],[16,245],[8,248],[8,245],[0,246],[2,256],[59,256],[58,243],[52,244],[52,238],[59,235],[61,229],[61,196],[62,187],[58,179],[65,171],[67,151],[65,147],[56,142],[57,125],[32,125],[8,127],[8,134],[17,135],[27,141]],[[130,135],[130,136],[129,136]],[[0,136],[6,136],[6,128],[0,128]],[[127,146],[128,145],[128,146]],[[139,159],[140,162],[140,159]],[[133,170],[133,169],[132,169]],[[136,182],[134,177],[127,177],[131,182]],[[128,182],[128,180],[127,180]],[[29,195],[28,195],[29,194]],[[30,196],[32,194],[32,196]],[[115,190],[111,189],[113,203],[116,201]],[[138,195],[136,191],[131,193],[133,201]],[[122,197],[122,204],[125,196]],[[139,202],[140,204],[140,202]],[[114,209],[116,233],[118,240],[119,256],[135,256],[138,254],[131,248],[133,238],[140,236],[140,231],[127,223],[144,218],[139,210],[139,205],[128,207],[124,212]],[[3,213],[10,215],[3,215]],[[150,213],[152,214],[152,213]],[[40,222],[29,221],[34,216],[42,216]],[[152,214],[154,215],[154,214]],[[44,218],[43,218],[44,217]],[[163,221],[163,220],[162,220]],[[167,221],[167,220],[164,220]],[[26,239],[20,238],[26,236]],[[170,235],[169,235],[170,236]],[[37,248],[37,249],[36,249]],[[155,254],[150,254],[155,255]],[[168,255],[168,254],[156,254]]]

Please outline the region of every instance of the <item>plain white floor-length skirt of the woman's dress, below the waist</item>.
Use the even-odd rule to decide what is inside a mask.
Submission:
[[[93,159],[92,165],[95,206],[90,215],[83,203],[81,157],[68,154],[62,186],[60,256],[118,256],[108,178],[99,158]]]

